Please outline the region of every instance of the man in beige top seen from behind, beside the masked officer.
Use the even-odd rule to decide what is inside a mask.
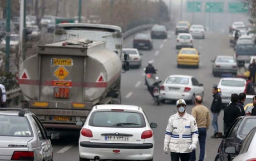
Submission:
[[[202,105],[202,98],[200,96],[195,97],[196,106],[192,108],[193,117],[196,120],[196,124],[198,124],[198,132],[199,132],[199,145],[200,145],[200,155],[199,161],[204,160],[204,152],[205,152],[205,139],[206,139],[206,131],[210,126],[210,112],[208,108]],[[190,161],[195,161],[195,150],[190,153]]]

